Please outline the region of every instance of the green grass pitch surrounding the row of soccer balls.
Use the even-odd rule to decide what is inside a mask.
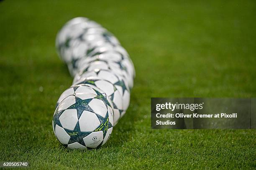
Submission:
[[[0,2],[0,161],[31,169],[255,169],[256,130],[151,130],[150,97],[255,97],[255,1]],[[56,32],[85,16],[131,55],[131,105],[108,143],[68,150],[51,120],[72,83]],[[39,91],[43,87],[43,92]]]

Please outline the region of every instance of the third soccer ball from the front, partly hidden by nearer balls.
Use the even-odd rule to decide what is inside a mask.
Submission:
[[[82,77],[78,82],[76,82],[76,85],[81,84],[93,85],[106,93],[106,95],[113,103],[114,125],[116,125],[120,117],[125,114],[122,102],[122,95],[120,94],[118,88],[108,80],[102,80],[96,77]]]

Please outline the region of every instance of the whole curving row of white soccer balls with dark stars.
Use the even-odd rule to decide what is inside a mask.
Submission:
[[[57,101],[54,134],[71,149],[100,147],[129,106],[133,63],[115,36],[87,18],[67,22],[56,47],[74,80]]]

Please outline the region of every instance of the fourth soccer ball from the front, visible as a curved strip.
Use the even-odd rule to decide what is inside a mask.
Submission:
[[[120,92],[122,96],[123,101],[123,111],[126,111],[128,109],[128,106],[130,104],[130,90],[128,87],[128,84],[126,83],[124,77],[115,74],[112,70],[104,70],[104,69],[95,69],[87,72],[78,72],[76,76],[74,77],[73,84],[75,84],[79,79],[81,78],[97,78],[102,80],[107,80],[111,82],[117,90]],[[123,114],[121,115],[123,116]]]

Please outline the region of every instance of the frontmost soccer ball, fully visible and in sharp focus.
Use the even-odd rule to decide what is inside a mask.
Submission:
[[[113,130],[110,106],[97,95],[74,93],[62,100],[54,112],[53,129],[59,142],[70,149],[104,145]]]

